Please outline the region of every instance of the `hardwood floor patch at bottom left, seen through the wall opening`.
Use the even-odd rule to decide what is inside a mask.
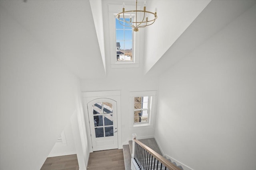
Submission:
[[[47,158],[40,170],[79,170],[76,154]]]

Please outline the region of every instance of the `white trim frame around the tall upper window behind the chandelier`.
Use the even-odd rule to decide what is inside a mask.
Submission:
[[[136,6],[126,6],[126,10],[134,10]],[[138,6],[138,10],[141,7]],[[111,68],[138,68],[139,67],[139,48],[140,31],[133,33],[133,61],[117,61],[116,57],[116,15],[118,9],[122,10],[122,5],[108,5],[109,31],[110,31],[110,56]]]

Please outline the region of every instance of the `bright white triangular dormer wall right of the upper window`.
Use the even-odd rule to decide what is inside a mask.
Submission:
[[[164,55],[210,0],[150,0],[147,10],[157,8],[157,20],[146,28],[144,73]]]

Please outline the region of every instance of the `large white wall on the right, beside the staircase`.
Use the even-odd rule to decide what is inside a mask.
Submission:
[[[160,77],[155,137],[194,170],[256,167],[256,6]]]

